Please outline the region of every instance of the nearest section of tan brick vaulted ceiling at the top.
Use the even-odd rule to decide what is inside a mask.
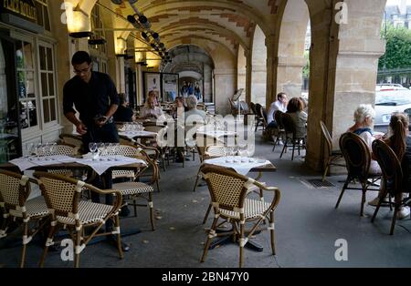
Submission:
[[[237,55],[238,45],[249,49],[256,25],[265,35],[272,34],[270,23],[281,1],[284,0],[139,0],[135,6],[149,19],[153,31],[160,34],[168,48],[176,38],[184,43],[184,38],[194,37],[226,46]],[[98,2],[124,17],[134,14],[127,0],[121,5],[114,5],[111,0]],[[131,31],[121,28],[132,26],[120,17],[112,19],[112,27],[119,29],[115,36],[127,38]]]

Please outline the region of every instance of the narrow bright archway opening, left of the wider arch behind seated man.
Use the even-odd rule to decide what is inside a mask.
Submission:
[[[254,31],[251,58],[251,101],[265,105],[267,88],[267,46],[266,36],[259,26],[256,26]]]

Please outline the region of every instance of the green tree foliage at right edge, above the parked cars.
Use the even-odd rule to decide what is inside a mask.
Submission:
[[[380,57],[378,69],[395,69],[411,67],[411,30],[392,25],[383,27],[385,36],[385,55]]]

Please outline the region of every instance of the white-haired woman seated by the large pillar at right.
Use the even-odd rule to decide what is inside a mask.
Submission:
[[[370,153],[373,153],[373,141],[375,139],[373,132],[373,123],[375,117],[375,110],[371,104],[362,104],[358,106],[353,114],[354,125],[348,128],[347,132],[352,132],[362,138],[370,149]],[[381,138],[380,136],[377,137]],[[380,166],[377,161],[371,159],[370,173],[381,174]]]

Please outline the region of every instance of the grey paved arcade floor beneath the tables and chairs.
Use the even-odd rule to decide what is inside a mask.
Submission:
[[[320,179],[319,173],[305,169],[302,158],[290,161],[290,153],[279,159],[279,149],[271,152],[272,146],[259,142],[256,156],[271,160],[278,172],[266,174],[263,181],[281,190],[281,201],[276,211],[277,256],[269,249],[269,232],[255,240],[264,246],[263,252],[245,250],[245,267],[410,267],[411,266],[411,221],[398,221],[395,235],[389,236],[391,213],[381,209],[374,224],[370,217],[374,208],[366,206],[365,217],[359,216],[360,191],[347,190],[339,209],[333,206],[338,198],[344,176],[329,180],[336,186],[315,189],[304,184],[305,179]],[[208,252],[207,259],[200,263],[205,241],[205,227],[201,222],[208,205],[208,190],[193,184],[198,169],[198,158],[181,164],[172,164],[162,171],[162,192],[155,192],[154,207],[157,209],[156,230],[150,231],[148,209],[140,208],[137,218],[121,220],[126,230],[133,225],[142,229],[140,234],[124,238],[132,249],[119,260],[117,250],[107,243],[87,247],[80,258],[81,267],[237,267],[238,248],[234,244],[221,246]],[[301,182],[302,181],[302,182]],[[374,199],[369,193],[367,200]],[[335,260],[336,240],[348,243],[348,260]],[[16,267],[20,248],[6,248],[0,242],[0,265]],[[32,243],[27,250],[27,267],[37,267],[41,247]],[[59,252],[50,252],[46,267],[72,267],[71,261],[62,261]]]

